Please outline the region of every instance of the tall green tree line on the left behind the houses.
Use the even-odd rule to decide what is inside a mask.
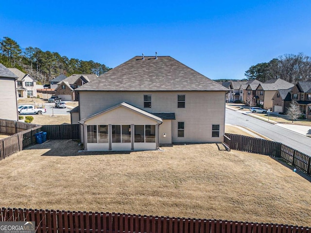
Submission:
[[[49,83],[60,74],[99,76],[111,69],[98,62],[69,59],[58,52],[42,51],[36,47],[22,49],[15,40],[6,36],[0,39],[0,63],[5,67],[15,67],[24,73],[29,73],[42,84]]]

